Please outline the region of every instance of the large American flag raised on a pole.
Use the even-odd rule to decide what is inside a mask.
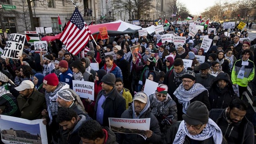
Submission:
[[[91,31],[88,29],[77,8],[60,35],[60,41],[66,45],[69,53],[77,55],[89,42]]]

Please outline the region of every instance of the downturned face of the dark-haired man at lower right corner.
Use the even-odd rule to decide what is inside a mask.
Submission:
[[[240,122],[245,117],[245,114],[246,114],[246,111],[241,111],[240,109],[238,109],[236,107],[233,107],[233,109],[230,109],[228,107],[227,110],[229,112],[229,120],[232,123]]]

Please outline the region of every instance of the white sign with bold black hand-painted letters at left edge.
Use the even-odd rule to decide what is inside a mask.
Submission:
[[[24,43],[25,43],[25,35],[12,33],[6,42],[5,49],[2,53],[2,58],[11,58],[11,59],[19,59],[21,57]]]

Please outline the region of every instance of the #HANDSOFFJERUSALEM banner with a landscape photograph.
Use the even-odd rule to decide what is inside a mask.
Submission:
[[[130,133],[130,134],[139,134],[145,140],[146,130],[150,128],[150,118],[141,118],[141,119],[128,119],[128,118],[108,118],[109,128],[114,133]]]

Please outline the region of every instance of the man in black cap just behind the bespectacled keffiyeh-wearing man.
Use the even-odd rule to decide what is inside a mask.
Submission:
[[[200,73],[196,74],[196,83],[203,85],[205,88],[211,87],[215,76],[208,74],[210,65],[208,63],[203,63],[199,65]]]

